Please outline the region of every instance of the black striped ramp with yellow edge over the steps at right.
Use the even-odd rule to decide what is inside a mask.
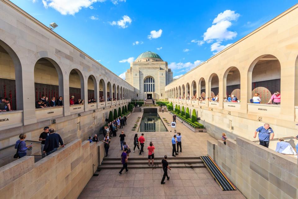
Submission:
[[[223,191],[233,191],[236,187],[227,178],[227,176],[222,172],[217,164],[212,160],[209,155],[200,156],[201,160],[205,164],[206,168],[209,170],[210,174],[213,176],[214,180],[219,184],[219,187]]]

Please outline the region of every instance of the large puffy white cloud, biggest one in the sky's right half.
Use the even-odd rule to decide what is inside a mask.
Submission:
[[[229,31],[231,27],[231,21],[237,21],[240,14],[235,11],[225,10],[217,15],[212,22],[212,26],[209,27],[204,33],[204,41],[207,43],[212,42],[214,39],[217,41],[233,39],[237,36],[237,32]]]

